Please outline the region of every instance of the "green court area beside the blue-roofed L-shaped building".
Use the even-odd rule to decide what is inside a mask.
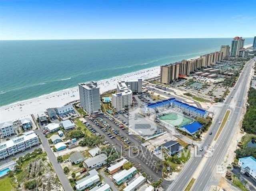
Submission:
[[[179,126],[179,127],[186,125],[193,121],[193,120],[191,120],[185,116],[182,116],[178,113],[169,113],[169,114],[161,116],[159,119],[172,125],[172,126]]]

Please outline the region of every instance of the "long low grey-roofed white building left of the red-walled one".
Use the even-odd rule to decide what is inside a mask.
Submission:
[[[106,154],[99,154],[95,157],[92,158],[88,158],[84,161],[84,165],[88,168],[88,169],[98,169],[99,167],[101,167],[102,165],[106,164],[106,160],[107,160],[107,156]]]

